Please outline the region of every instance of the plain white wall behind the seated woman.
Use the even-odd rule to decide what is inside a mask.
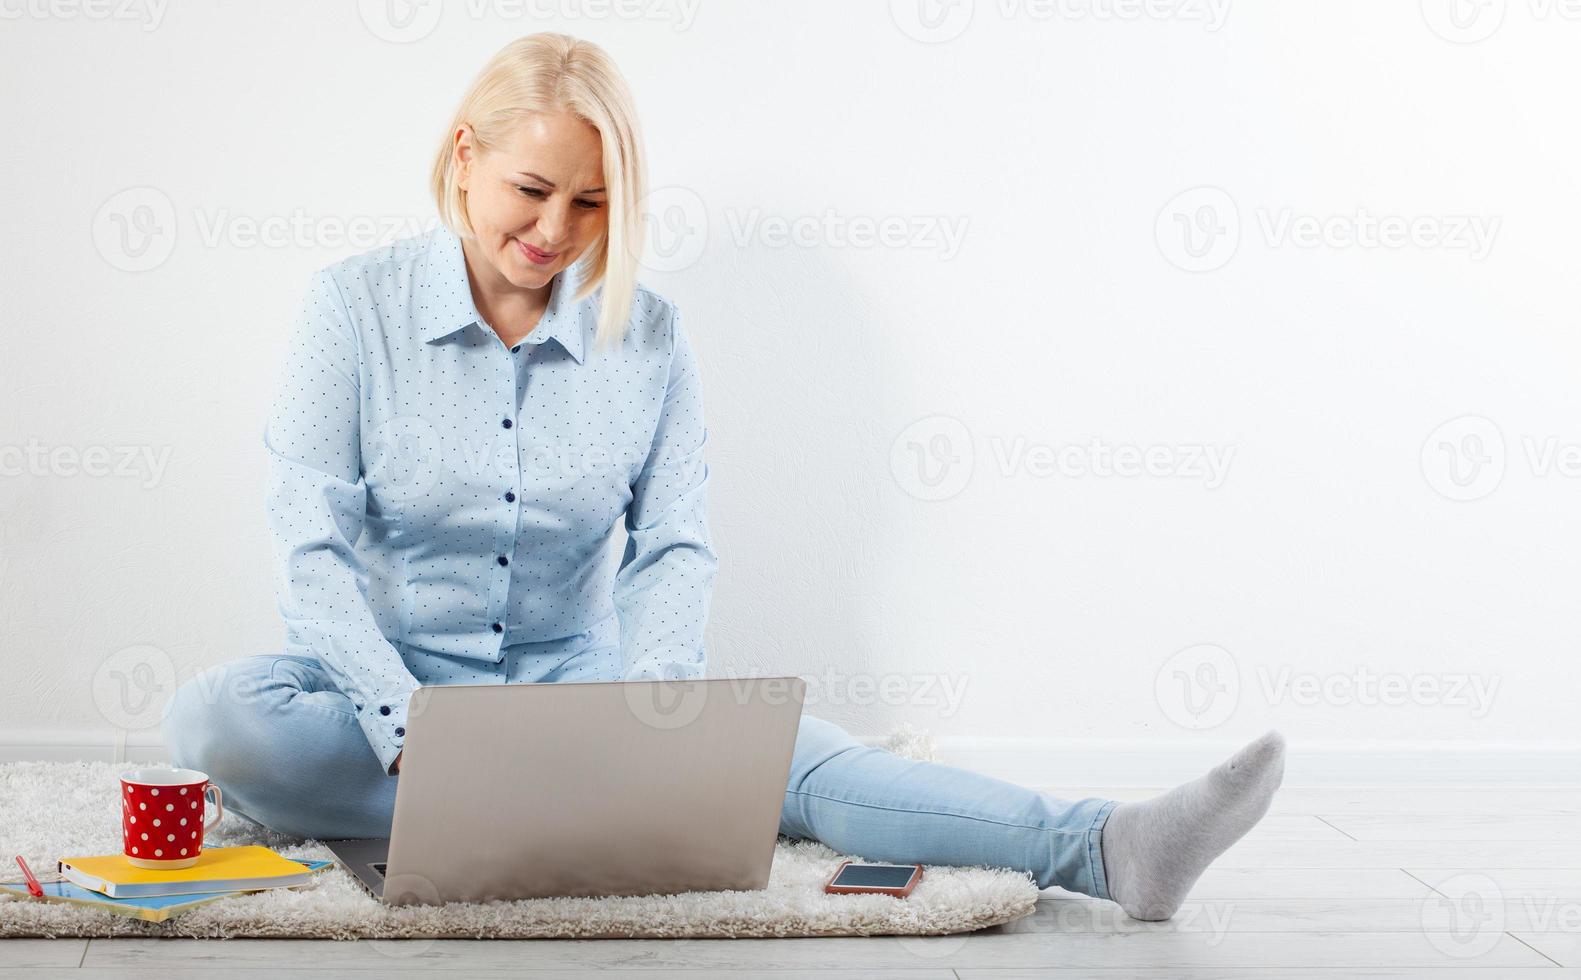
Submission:
[[[716,675],[870,735],[1573,748],[1581,19],[920,3],[0,0],[0,743],[145,740],[277,648],[259,430],[307,277],[432,223],[466,81],[561,28],[662,188]]]

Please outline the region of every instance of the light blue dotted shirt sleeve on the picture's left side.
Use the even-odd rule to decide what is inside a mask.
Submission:
[[[288,642],[316,658],[351,699],[389,773],[419,683],[367,601],[354,545],[367,512],[359,345],[340,288],[315,273],[264,427],[275,594]]]

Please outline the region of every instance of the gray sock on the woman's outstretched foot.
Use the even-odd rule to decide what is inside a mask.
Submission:
[[[1284,735],[1270,732],[1200,779],[1121,803],[1099,850],[1108,893],[1132,918],[1175,915],[1208,865],[1241,839],[1284,779]]]

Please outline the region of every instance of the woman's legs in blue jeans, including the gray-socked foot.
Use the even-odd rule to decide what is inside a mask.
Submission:
[[[310,658],[255,656],[183,684],[166,705],[177,765],[210,775],[226,805],[291,836],[389,836],[387,776],[351,702]],[[969,770],[863,746],[802,716],[779,833],[871,861],[1028,871],[1168,918],[1197,876],[1266,811],[1284,744],[1265,737],[1156,800],[1059,800]]]

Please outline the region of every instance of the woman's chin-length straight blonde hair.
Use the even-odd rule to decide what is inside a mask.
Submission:
[[[484,65],[462,96],[433,161],[432,185],[440,221],[457,237],[476,237],[466,220],[466,191],[458,187],[454,166],[455,131],[471,126],[473,144],[487,150],[506,142],[509,128],[526,112],[569,112],[598,130],[602,139],[609,224],[575,262],[580,288],[574,302],[582,302],[602,285],[594,343],[615,343],[626,330],[637,292],[637,262],[642,258],[639,205],[647,168],[636,103],[626,79],[602,47],[544,32],[511,41]]]

